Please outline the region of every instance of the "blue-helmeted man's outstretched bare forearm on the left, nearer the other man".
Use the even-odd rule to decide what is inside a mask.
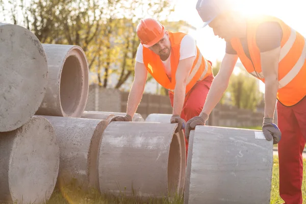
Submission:
[[[220,101],[224,91],[228,86],[228,82],[224,82],[222,78],[216,75],[215,79],[213,80],[212,86],[208,92],[205,105],[203,106],[202,112],[209,115],[215,106]]]

